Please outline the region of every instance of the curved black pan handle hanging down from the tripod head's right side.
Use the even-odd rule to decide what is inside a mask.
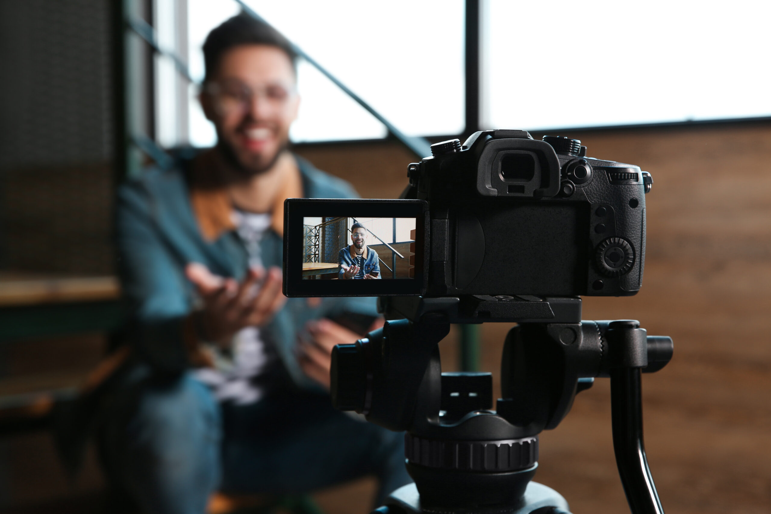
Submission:
[[[664,514],[642,442],[640,368],[611,369],[613,449],[632,514]]]

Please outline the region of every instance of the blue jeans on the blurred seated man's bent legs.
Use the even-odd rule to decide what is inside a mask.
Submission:
[[[402,433],[332,408],[328,395],[283,391],[252,405],[218,404],[183,374],[136,370],[109,402],[106,472],[144,512],[202,514],[212,492],[309,492],[376,475],[380,505],[411,482]]]

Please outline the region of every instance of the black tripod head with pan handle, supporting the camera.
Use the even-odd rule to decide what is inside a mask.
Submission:
[[[614,452],[631,512],[663,513],[642,440],[641,373],[668,363],[671,338],[648,336],[638,321],[581,321],[577,297],[392,297],[382,310],[406,319],[332,354],[335,407],[406,431],[415,484],[376,512],[567,512],[559,493],[530,481],[538,434],[557,427],[594,378],[610,377]],[[439,361],[451,322],[481,321],[518,323],[504,344],[496,411],[490,373],[442,373]]]

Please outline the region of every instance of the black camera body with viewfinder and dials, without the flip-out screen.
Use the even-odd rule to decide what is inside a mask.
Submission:
[[[641,287],[645,193],[638,166],[584,156],[575,139],[523,130],[436,143],[403,198],[429,204],[428,297],[629,296]]]

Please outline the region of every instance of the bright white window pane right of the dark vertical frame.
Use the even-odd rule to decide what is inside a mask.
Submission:
[[[771,116],[771,2],[483,2],[484,128]]]

